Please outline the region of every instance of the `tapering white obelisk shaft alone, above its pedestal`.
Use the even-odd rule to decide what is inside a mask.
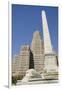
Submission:
[[[45,54],[52,53],[52,44],[51,44],[45,11],[42,11],[42,25],[43,25],[43,36],[44,36],[44,52]]]

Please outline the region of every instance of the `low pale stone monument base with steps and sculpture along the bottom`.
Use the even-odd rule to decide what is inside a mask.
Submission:
[[[26,75],[22,80],[18,80],[16,85],[23,84],[46,84],[46,83],[58,83],[58,73],[46,73],[39,74],[35,69],[29,69],[26,71]]]

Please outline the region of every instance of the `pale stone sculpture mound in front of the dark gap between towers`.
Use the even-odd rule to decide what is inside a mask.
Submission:
[[[41,79],[41,75],[35,69],[29,69],[26,71],[26,75],[21,82],[30,82],[34,80]]]

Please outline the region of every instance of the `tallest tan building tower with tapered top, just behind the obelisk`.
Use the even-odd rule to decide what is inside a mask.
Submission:
[[[43,42],[41,40],[39,31],[35,31],[33,34],[31,51],[33,54],[34,69],[37,70],[39,73],[41,73],[43,71],[44,55],[43,55]]]

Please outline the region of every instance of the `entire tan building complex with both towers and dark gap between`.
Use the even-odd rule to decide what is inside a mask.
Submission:
[[[12,64],[13,75],[25,75],[28,69],[42,73],[44,67],[44,47],[39,31],[33,34],[31,47],[22,45],[19,55],[14,57]]]

